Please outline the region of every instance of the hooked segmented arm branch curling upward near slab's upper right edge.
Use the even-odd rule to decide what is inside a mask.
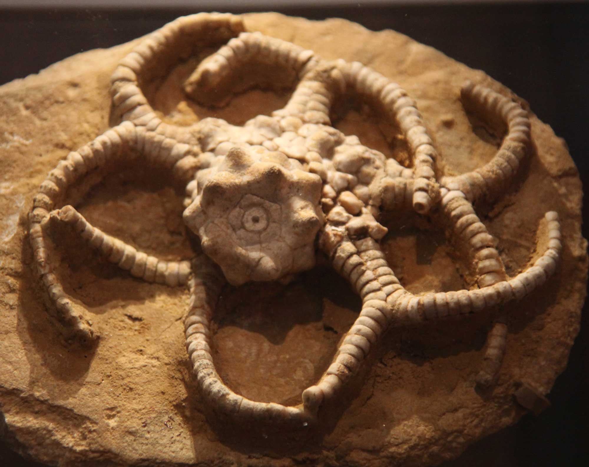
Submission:
[[[451,190],[461,190],[470,201],[483,198],[492,202],[509,187],[527,157],[530,119],[518,103],[470,81],[462,87],[461,98],[466,108],[491,123],[507,125],[508,131],[497,154],[486,165],[459,176],[442,177],[440,184]]]

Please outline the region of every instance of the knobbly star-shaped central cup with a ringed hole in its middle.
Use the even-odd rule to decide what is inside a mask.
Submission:
[[[184,221],[231,284],[271,281],[315,265],[322,182],[295,165],[283,153],[241,144],[198,173]]]

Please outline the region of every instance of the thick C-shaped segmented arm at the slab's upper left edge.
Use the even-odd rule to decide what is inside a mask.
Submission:
[[[114,114],[171,139],[196,143],[187,128],[169,125],[157,117],[141,87],[166,75],[179,58],[187,59],[197,48],[226,42],[241,31],[239,17],[199,13],[178,18],[152,32],[120,61],[112,74]]]

